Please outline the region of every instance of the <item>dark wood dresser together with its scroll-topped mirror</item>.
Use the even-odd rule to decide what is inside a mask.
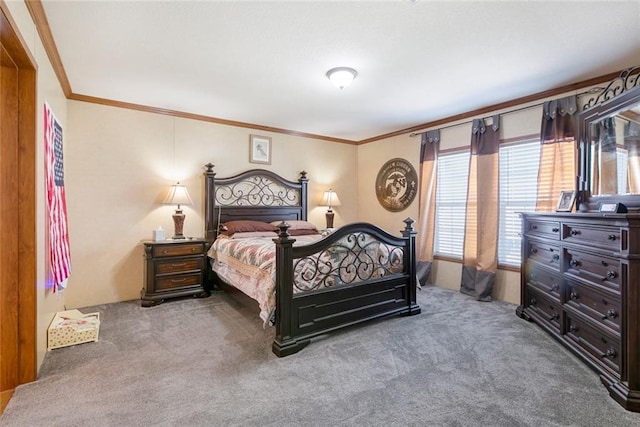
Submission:
[[[639,77],[640,67],[624,70],[578,115],[579,212],[522,215],[516,310],[599,373],[611,397],[634,412],[640,412],[640,192],[629,183],[640,180]],[[628,166],[622,181],[608,169],[613,164]],[[629,213],[600,212],[603,204],[620,203]]]

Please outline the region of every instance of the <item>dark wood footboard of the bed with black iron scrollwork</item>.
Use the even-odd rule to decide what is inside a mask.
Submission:
[[[402,237],[367,223],[349,224],[321,241],[293,246],[286,223],[276,243],[276,337],[273,352],[288,356],[311,338],[390,315],[420,313],[416,303],[416,231],[407,218]],[[372,249],[373,248],[373,249]],[[345,252],[347,258],[336,257]],[[333,258],[332,258],[333,257]],[[306,263],[301,273],[301,263]],[[310,267],[309,267],[310,266]],[[317,288],[294,292],[313,277]]]

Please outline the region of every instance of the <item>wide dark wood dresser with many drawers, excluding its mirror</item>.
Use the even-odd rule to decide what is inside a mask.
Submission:
[[[522,214],[521,304],[640,412],[640,214]]]

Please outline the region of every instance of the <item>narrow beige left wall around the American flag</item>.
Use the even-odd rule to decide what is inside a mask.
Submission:
[[[32,56],[35,58],[37,72],[37,150],[36,150],[36,257],[37,257],[37,363],[42,363],[46,353],[47,346],[47,328],[51,319],[57,311],[64,310],[64,295],[61,293],[53,294],[51,289],[47,288],[45,268],[48,262],[48,255],[45,250],[45,192],[44,192],[44,131],[43,131],[43,105],[48,102],[56,117],[63,127],[63,132],[67,128],[67,100],[62,92],[62,88],[53,71],[49,58],[44,50],[42,42],[38,37],[35,25],[31,20],[31,15],[23,1],[9,1],[7,6],[11,12],[11,17],[18,26],[22,38],[24,39]]]

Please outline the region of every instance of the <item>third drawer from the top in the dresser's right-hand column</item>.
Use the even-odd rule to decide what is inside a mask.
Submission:
[[[620,333],[620,300],[607,292],[568,280],[566,305],[593,319],[596,323]]]

